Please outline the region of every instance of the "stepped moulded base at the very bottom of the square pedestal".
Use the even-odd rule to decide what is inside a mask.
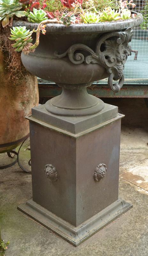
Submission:
[[[18,210],[26,213],[34,220],[37,220],[44,227],[54,231],[76,247],[90,236],[93,236],[100,229],[107,226],[110,222],[120,217],[122,213],[127,212],[130,208],[132,208],[132,204],[129,204],[122,199],[118,199],[76,228],[70,223],[57,217],[52,212],[49,212],[41,205],[36,204],[33,200],[29,200],[26,204],[18,206]]]

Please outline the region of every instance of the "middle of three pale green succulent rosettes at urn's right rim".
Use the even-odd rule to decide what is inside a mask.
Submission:
[[[100,16],[100,21],[113,21],[113,20],[119,20],[120,12],[115,9],[111,9],[110,7],[107,7],[105,11]]]

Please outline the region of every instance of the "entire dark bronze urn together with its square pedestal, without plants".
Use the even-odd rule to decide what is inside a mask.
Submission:
[[[135,19],[68,28],[48,24],[36,51],[22,53],[31,73],[63,91],[28,117],[33,200],[18,209],[75,246],[132,207],[118,199],[123,115],[86,88],[108,77],[108,86],[119,92],[131,52],[131,27],[142,21],[138,14]]]

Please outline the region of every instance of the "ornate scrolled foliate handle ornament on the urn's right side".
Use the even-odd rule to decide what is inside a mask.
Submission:
[[[124,83],[124,64],[127,57],[131,55],[131,47],[128,43],[131,41],[132,36],[133,30],[131,28],[120,32],[107,32],[100,36],[95,52],[84,44],[73,44],[63,54],[55,52],[54,55],[58,58],[64,58],[68,55],[69,60],[76,65],[82,64],[83,62],[85,64],[95,63],[102,65],[109,74],[109,88],[113,92],[119,92]],[[84,56],[83,53],[78,51],[85,51],[89,55]],[[113,80],[118,79],[119,83],[113,84]]]

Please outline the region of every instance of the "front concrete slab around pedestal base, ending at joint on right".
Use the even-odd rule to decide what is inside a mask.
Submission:
[[[22,175],[19,169],[5,170],[5,174],[9,178],[3,177],[1,187],[2,236],[11,242],[6,256],[148,255],[147,191],[121,179],[120,196],[133,208],[75,248],[16,209],[31,198],[31,176]]]

